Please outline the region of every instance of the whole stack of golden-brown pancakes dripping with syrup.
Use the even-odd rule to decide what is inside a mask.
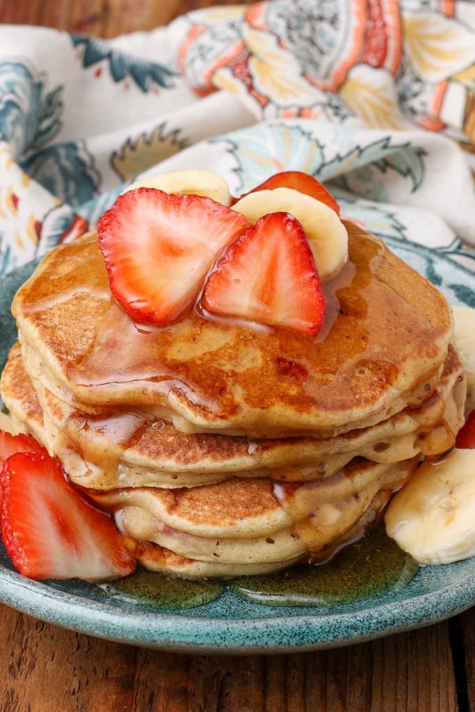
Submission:
[[[4,401],[145,567],[229,577],[324,560],[453,446],[466,384],[449,305],[347,229],[316,338],[199,305],[134,323],[95,234],[55,248],[16,295]]]

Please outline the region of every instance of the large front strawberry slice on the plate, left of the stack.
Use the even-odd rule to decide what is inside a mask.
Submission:
[[[11,455],[1,472],[2,540],[14,566],[33,579],[126,576],[135,560],[125,537],[41,452]]]

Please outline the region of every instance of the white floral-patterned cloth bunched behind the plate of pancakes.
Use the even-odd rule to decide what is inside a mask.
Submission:
[[[0,26],[0,274],[196,167],[235,195],[313,174],[475,306],[475,3],[267,0],[108,42]]]

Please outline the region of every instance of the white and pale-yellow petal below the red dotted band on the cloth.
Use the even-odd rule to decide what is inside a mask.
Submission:
[[[360,117],[361,121],[353,125],[394,130],[411,127],[399,110],[394,81],[385,69],[365,64],[353,67],[340,95],[348,108]]]

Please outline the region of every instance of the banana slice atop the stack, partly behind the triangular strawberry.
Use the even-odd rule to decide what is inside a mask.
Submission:
[[[348,233],[334,210],[292,188],[249,193],[233,206],[255,224],[267,213],[291,213],[306,231],[320,279],[333,277],[348,261]]]

